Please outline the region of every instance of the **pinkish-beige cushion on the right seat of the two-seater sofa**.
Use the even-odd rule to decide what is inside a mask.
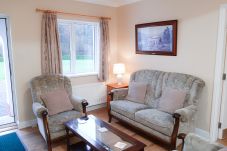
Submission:
[[[185,97],[185,91],[167,88],[160,98],[159,110],[173,114],[177,109],[183,108]]]

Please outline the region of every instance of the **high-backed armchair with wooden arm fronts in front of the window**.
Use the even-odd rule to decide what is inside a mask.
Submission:
[[[33,99],[32,107],[37,119],[38,128],[47,142],[48,151],[51,151],[51,142],[65,136],[63,123],[73,118],[81,117],[82,112],[86,114],[87,102],[84,99],[72,95],[70,79],[62,75],[42,75],[35,77],[31,80],[30,88]],[[57,89],[66,90],[74,109],[49,116],[48,109],[40,99],[40,96]]]

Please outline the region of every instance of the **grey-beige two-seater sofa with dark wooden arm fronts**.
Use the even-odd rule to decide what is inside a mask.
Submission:
[[[126,100],[127,88],[115,89],[110,95],[109,110],[111,118],[117,118],[136,129],[176,149],[178,131],[188,133],[194,129],[199,94],[204,87],[203,80],[181,73],[156,70],[140,70],[131,75],[130,81],[147,83],[145,103]],[[169,114],[158,110],[159,99],[166,88],[186,91],[184,107]]]

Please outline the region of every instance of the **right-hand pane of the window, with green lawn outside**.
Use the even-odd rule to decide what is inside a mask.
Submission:
[[[75,24],[76,73],[95,71],[94,31],[94,25]]]

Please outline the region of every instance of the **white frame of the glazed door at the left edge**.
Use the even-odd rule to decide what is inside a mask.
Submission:
[[[14,127],[18,125],[18,108],[17,108],[17,97],[16,97],[16,83],[15,83],[15,74],[14,74],[14,66],[13,66],[13,47],[12,47],[12,36],[11,36],[11,24],[10,24],[10,18],[8,15],[1,14],[0,18],[6,19],[6,33],[7,33],[7,44],[8,44],[8,61],[9,61],[9,72],[10,72],[10,81],[11,81],[11,91],[12,91],[12,103],[13,103],[13,112],[14,112],[14,123],[9,123],[3,126],[0,126],[1,128],[7,128],[7,127]]]

